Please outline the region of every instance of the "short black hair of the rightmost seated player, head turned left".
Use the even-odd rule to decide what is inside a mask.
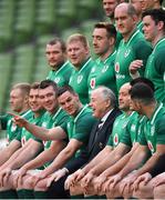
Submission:
[[[149,104],[155,101],[154,91],[149,86],[143,82],[135,83],[130,90],[131,99],[136,99],[144,104]]]

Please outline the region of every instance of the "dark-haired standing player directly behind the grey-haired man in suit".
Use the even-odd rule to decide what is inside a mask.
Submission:
[[[99,58],[96,59],[97,64],[92,68],[89,76],[89,93],[91,94],[91,91],[97,86],[105,86],[116,94],[114,71],[114,60],[116,56],[115,27],[107,22],[95,23],[92,37],[93,49]]]

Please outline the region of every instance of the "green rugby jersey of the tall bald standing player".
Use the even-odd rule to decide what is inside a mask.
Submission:
[[[128,41],[122,40],[115,58],[115,74],[117,91],[125,83],[132,80],[130,76],[130,64],[134,60],[143,60],[143,67],[138,70],[144,76],[145,64],[152,52],[151,44],[145,40],[140,30],[135,30]]]

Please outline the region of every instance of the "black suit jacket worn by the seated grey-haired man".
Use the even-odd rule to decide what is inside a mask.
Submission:
[[[86,150],[84,150],[79,158],[69,161],[65,164],[65,168],[69,170],[70,173],[73,173],[74,171],[76,171],[78,169],[90,162],[101,150],[104,149],[109,140],[109,137],[112,133],[113,122],[115,118],[120,114],[121,111],[117,108],[112,110],[106,121],[104,122],[103,127],[99,130],[96,139],[95,139],[95,134],[97,131],[99,122],[96,122],[93,126]]]

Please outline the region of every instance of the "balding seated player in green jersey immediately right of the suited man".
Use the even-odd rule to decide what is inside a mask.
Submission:
[[[130,83],[125,83],[120,90],[118,104],[124,112],[123,114],[117,117],[116,120],[114,121],[112,134],[110,136],[106,147],[89,164],[86,164],[83,169],[76,171],[69,178],[66,183],[68,186],[71,186],[74,182],[74,187],[70,188],[72,193],[74,192],[78,193],[79,191],[83,191],[84,190],[83,188],[86,188],[87,189],[86,191],[89,193],[91,193],[91,191],[93,194],[97,193],[97,191],[94,191],[93,188],[97,182],[97,180],[95,180],[95,177],[97,177],[106,168],[115,163],[121,157],[123,157],[127,151],[130,151],[131,147],[133,146],[133,142],[135,141],[136,138],[135,121],[137,121],[137,114],[132,113],[132,111],[130,110],[130,94],[128,94],[130,89],[131,89]],[[122,143],[121,141],[124,134],[124,130],[128,124],[128,121],[132,123],[132,127],[134,127],[134,130],[132,130],[132,137],[133,136],[134,137],[133,139],[131,139],[132,142]],[[131,138],[131,136],[128,138]],[[105,180],[106,177],[104,181]],[[80,189],[79,187],[78,190],[76,184],[80,186],[80,181],[82,183],[82,188]]]

